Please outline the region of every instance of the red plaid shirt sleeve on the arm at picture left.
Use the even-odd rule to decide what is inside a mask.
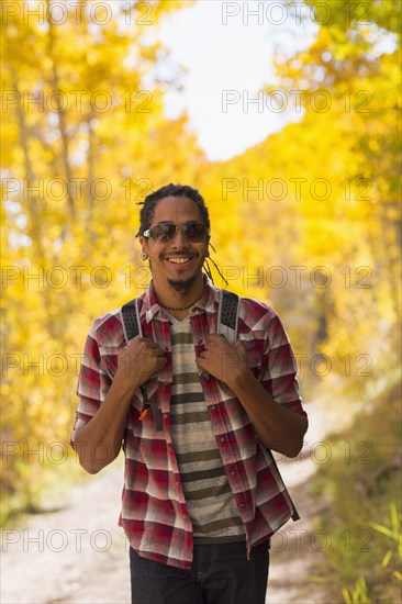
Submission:
[[[102,370],[101,355],[97,342],[97,321],[93,323],[83,348],[78,378],[76,422],[71,434],[71,444],[77,429],[83,427],[97,413],[111,387],[110,377]]]

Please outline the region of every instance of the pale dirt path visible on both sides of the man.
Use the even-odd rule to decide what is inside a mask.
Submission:
[[[313,529],[320,511],[312,504],[309,482],[320,468],[314,455],[321,451],[316,444],[325,422],[320,404],[309,405],[308,412],[304,456],[278,460],[302,521],[289,522],[272,539],[269,604],[326,603],[322,589],[309,579],[323,556]],[[2,604],[130,603],[129,552],[116,523],[122,481],[119,460],[76,488],[59,512],[31,516],[24,528],[3,532]]]

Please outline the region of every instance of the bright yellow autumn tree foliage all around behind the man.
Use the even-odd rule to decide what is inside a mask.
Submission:
[[[133,2],[104,24],[86,4],[79,25],[45,10],[3,26],[5,516],[38,505],[43,473],[72,457],[86,333],[144,291],[137,203],[167,182],[204,195],[227,287],[283,316],[306,398],[337,398],[343,414],[399,373],[399,2],[370,0],[370,23],[333,19],[291,60],[277,56],[266,93],[303,91],[299,122],[215,163],[185,113],[164,113],[179,80],[160,68],[158,22],[182,3],[152,2],[148,18]]]

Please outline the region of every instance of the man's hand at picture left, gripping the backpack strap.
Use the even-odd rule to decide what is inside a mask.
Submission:
[[[153,378],[165,365],[165,353],[156,342],[135,337],[118,353],[118,371],[114,380],[134,394],[137,388]]]

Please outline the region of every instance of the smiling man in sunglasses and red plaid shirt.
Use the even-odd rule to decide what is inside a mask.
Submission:
[[[197,190],[149,194],[138,236],[152,270],[143,337],[126,345],[120,311],[94,322],[74,447],[96,473],[123,443],[133,604],[264,604],[269,538],[294,516],[269,449],[298,455],[308,427],[289,340],[272,309],[246,298],[236,344],[216,334]]]

